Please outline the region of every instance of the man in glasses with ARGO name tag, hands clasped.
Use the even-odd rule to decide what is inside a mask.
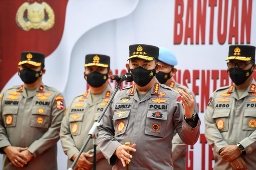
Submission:
[[[256,167],[255,47],[230,45],[231,86],[218,88],[204,115],[205,137],[214,149],[214,170],[254,170]]]

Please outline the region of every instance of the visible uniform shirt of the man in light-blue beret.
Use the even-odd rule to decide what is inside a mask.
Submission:
[[[181,84],[178,84],[174,81],[172,78],[172,81],[169,84],[169,87],[173,88],[178,92],[178,90],[182,90],[183,87],[186,88],[186,90],[194,97],[194,110],[198,113],[198,108],[196,104],[196,98],[194,93],[188,89],[186,86],[182,86]],[[176,130],[174,130],[174,136],[172,139],[172,157],[173,157],[173,167],[174,170],[186,170],[186,154],[187,154],[187,148],[186,144],[182,142],[180,139],[178,133]]]

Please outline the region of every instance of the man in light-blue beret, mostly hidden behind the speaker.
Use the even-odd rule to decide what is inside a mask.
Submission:
[[[160,71],[156,74],[156,78],[160,82],[160,84],[165,84],[166,86],[173,88],[177,92],[179,89],[182,90],[182,88],[184,87],[188,91],[188,93],[193,96],[194,110],[198,112],[194,93],[186,86],[178,84],[173,79],[173,76],[175,76],[177,72],[177,69],[174,68],[174,66],[178,64],[178,61],[172,51],[164,47],[160,47],[158,64],[162,65],[162,68],[160,68]],[[180,139],[177,131],[174,130],[174,136],[172,139],[172,161],[174,170],[186,170],[186,146],[187,145],[184,144]]]

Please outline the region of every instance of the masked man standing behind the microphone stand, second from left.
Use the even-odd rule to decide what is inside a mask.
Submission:
[[[89,90],[76,96],[68,106],[60,130],[60,140],[64,153],[68,156],[68,168],[76,159],[88,133],[108,103],[113,90],[108,84],[112,72],[110,57],[100,54],[89,54],[85,57],[84,78],[90,85]],[[93,169],[94,145],[92,139],[80,155],[74,170]],[[102,152],[97,147],[96,169],[111,170]]]

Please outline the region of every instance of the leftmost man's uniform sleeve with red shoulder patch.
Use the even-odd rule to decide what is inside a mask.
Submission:
[[[62,94],[59,93],[57,96],[62,96]],[[44,133],[44,135],[40,139],[34,141],[28,147],[28,151],[30,151],[35,158],[42,154],[45,150],[54,146],[60,139],[60,124],[66,110],[66,104],[64,102],[63,109],[58,109],[56,105],[56,101],[54,100],[51,113],[51,125],[48,128],[48,131],[46,131],[46,133]]]

